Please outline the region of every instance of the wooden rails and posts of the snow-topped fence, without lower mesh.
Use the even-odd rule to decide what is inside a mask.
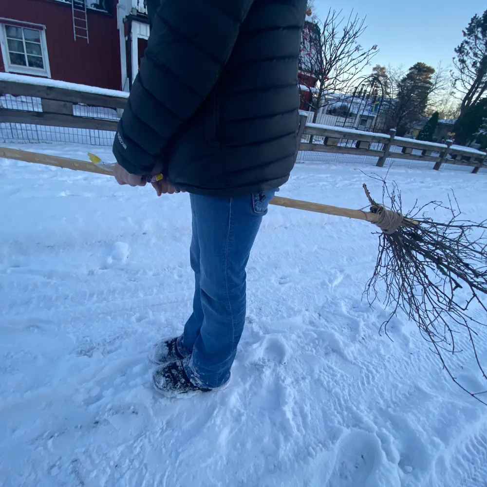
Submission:
[[[83,105],[119,111],[127,104],[127,94],[107,95],[96,93],[96,90],[93,90],[95,93],[88,91],[86,87],[67,89],[56,86],[56,82],[52,83],[53,86],[47,86],[0,77],[0,94],[40,99],[42,110],[0,108],[0,122],[116,131],[116,118],[103,118],[103,115],[80,116],[75,114],[79,112],[75,108]],[[299,150],[372,156],[377,158],[378,167],[384,166],[387,158],[434,162],[433,169],[440,169],[444,163],[470,166],[473,173],[487,167],[485,152],[454,146],[451,141],[447,144],[435,144],[396,137],[394,130],[383,134],[306,123],[306,117],[305,113],[300,116]]]

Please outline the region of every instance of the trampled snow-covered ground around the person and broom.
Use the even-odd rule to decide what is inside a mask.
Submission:
[[[375,171],[300,164],[280,195],[363,207],[362,183],[380,187],[360,169]],[[393,166],[388,178],[406,208],[454,188],[468,218],[486,217],[484,172]],[[485,487],[487,408],[413,323],[394,318],[391,341],[386,311],[361,300],[369,224],[271,206],[231,385],[168,400],[147,353],[190,312],[188,196],[4,159],[0,181],[2,486]]]

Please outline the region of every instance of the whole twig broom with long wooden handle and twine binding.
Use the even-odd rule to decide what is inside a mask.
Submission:
[[[94,164],[24,150],[0,148],[0,157],[112,175],[108,164]],[[423,206],[416,204],[412,210],[403,214],[400,192],[395,183],[387,187],[383,179],[377,179],[382,182],[382,200],[387,201],[387,206],[377,203],[364,184],[369,211],[280,196],[275,196],[270,204],[363,220],[376,225],[380,230],[378,256],[364,294],[372,305],[379,294],[383,293],[381,300],[386,307],[391,306],[391,314],[382,324],[386,335],[387,325],[397,311],[402,310],[417,324],[422,337],[430,344],[451,379],[465,392],[487,405],[487,398],[481,397],[487,391],[469,391],[453,375],[447,359],[447,354],[461,351],[455,345],[455,337],[460,332],[460,336],[468,340],[480,373],[487,381],[476,341],[477,329],[486,324],[469,312],[469,308],[471,310],[472,306],[477,305],[487,313],[486,304],[481,299],[487,294],[487,239],[484,236],[487,221],[475,223],[461,219],[454,196],[453,200],[449,197],[448,205],[431,201]],[[435,222],[425,215],[427,210],[437,208],[449,211],[447,222]],[[462,296],[459,297],[460,290]]]

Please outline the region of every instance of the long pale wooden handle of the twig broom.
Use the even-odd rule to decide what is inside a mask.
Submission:
[[[88,161],[78,161],[76,159],[69,159],[67,157],[39,154],[37,152],[28,152],[26,150],[0,147],[0,157],[4,157],[5,159],[15,159],[17,161],[32,162],[35,164],[45,164],[47,166],[55,166],[56,168],[95,172],[97,174],[106,174],[108,176],[112,175],[111,171],[99,168]],[[309,201],[283,198],[282,196],[274,196],[274,198],[270,201],[270,204],[276,206],[285,206],[286,208],[295,208],[298,210],[314,211],[316,213],[325,213],[326,215],[353,218],[355,220],[365,220],[372,223],[375,223],[378,219],[377,214],[368,211],[352,210],[331,205],[321,205],[319,203],[310,203]]]

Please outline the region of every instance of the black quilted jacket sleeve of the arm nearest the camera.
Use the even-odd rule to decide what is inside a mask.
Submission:
[[[121,166],[137,175],[154,168],[215,86],[252,2],[161,1],[113,141]]]

